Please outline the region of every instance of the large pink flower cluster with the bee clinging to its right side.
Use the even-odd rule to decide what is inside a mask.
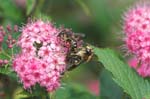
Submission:
[[[21,53],[13,60],[13,69],[25,89],[35,84],[51,92],[60,86],[66,68],[66,51],[58,38],[59,30],[49,22],[27,23],[17,42]]]

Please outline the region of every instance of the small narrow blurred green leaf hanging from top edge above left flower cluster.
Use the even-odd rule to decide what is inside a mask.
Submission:
[[[27,15],[30,15],[35,7],[35,4],[36,4],[36,0],[27,0],[27,11],[26,11],[26,14]]]

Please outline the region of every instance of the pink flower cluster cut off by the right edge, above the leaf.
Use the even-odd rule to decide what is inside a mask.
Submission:
[[[141,4],[128,11],[124,18],[125,41],[137,59],[138,73],[150,76],[150,5]]]

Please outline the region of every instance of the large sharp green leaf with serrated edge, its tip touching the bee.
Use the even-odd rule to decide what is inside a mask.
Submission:
[[[113,75],[113,80],[129,94],[132,99],[142,99],[150,92],[148,80],[140,77],[127,64],[122,62],[112,50],[94,48],[95,54],[104,67]]]

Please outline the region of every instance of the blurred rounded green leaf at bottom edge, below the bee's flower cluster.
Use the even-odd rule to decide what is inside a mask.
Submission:
[[[96,96],[79,84],[67,83],[56,91],[54,99],[96,99]]]

